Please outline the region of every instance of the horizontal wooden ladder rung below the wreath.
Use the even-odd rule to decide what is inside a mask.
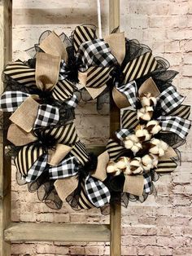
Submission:
[[[103,242],[111,240],[110,225],[75,223],[11,223],[5,241]]]

